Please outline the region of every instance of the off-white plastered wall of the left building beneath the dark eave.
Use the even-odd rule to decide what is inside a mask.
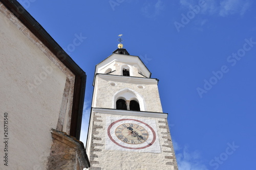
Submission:
[[[51,129],[69,134],[75,76],[2,3],[0,37],[0,169],[46,169]]]

